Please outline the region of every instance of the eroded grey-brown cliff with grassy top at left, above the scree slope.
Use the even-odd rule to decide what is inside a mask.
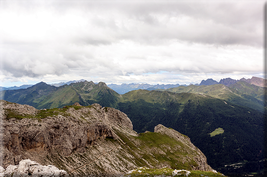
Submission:
[[[4,168],[18,165],[22,159],[31,157],[31,153],[46,155],[56,151],[68,156],[74,149],[83,152],[98,138],[117,139],[111,126],[123,125],[132,130],[132,122],[126,114],[98,104],[55,111],[37,110],[4,100],[0,104],[0,138],[3,140],[0,165]],[[26,116],[28,118],[24,118]]]

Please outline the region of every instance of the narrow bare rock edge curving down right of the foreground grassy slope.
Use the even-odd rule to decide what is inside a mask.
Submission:
[[[199,166],[193,167],[193,170],[206,170],[210,171],[212,168],[207,164],[207,158],[205,155],[196,147],[194,146],[190,138],[188,138],[185,135],[182,135],[181,133],[177,132],[174,129],[169,129],[167,127],[164,127],[163,125],[159,124],[154,128],[154,132],[165,134],[170,136],[171,138],[174,138],[175,140],[182,142],[188,149],[188,151],[191,151],[191,155],[193,155],[192,159],[199,164]]]

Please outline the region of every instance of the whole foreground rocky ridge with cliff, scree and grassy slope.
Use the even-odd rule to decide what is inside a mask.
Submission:
[[[127,115],[114,108],[75,103],[38,110],[4,100],[0,104],[3,173],[18,173],[14,170],[22,163],[30,174],[35,163],[53,165],[63,170],[61,176],[120,176],[138,167],[212,170],[187,136],[163,125],[137,134]]]

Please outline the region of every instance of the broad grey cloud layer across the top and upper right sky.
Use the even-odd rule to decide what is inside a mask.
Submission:
[[[88,19],[88,23],[94,28],[101,28],[103,38],[94,35],[87,37],[90,31],[77,31],[78,36],[74,36],[73,40],[81,44],[110,45],[120,39],[130,39],[158,45],[164,40],[177,39],[215,45],[262,46],[261,1],[50,1],[44,6],[57,9],[61,15],[78,8],[85,19],[93,19]],[[91,14],[95,15],[91,17]],[[177,21],[173,26],[166,26],[155,14],[165,15],[169,19],[185,16],[190,20],[184,24]],[[124,23],[123,19],[143,25],[132,29],[117,26],[115,20]]]

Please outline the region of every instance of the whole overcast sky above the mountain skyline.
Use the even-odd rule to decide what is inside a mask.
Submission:
[[[1,0],[0,86],[264,78],[264,3]]]

